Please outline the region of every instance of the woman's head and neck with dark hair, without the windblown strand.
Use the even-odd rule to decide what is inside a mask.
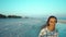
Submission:
[[[46,25],[51,30],[54,30],[56,23],[57,23],[57,18],[55,16],[50,16]]]

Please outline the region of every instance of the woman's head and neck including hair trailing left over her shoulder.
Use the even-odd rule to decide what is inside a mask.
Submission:
[[[55,16],[50,16],[46,24],[42,26],[42,28],[50,26],[52,29],[55,28],[55,24],[57,23],[57,18]]]

